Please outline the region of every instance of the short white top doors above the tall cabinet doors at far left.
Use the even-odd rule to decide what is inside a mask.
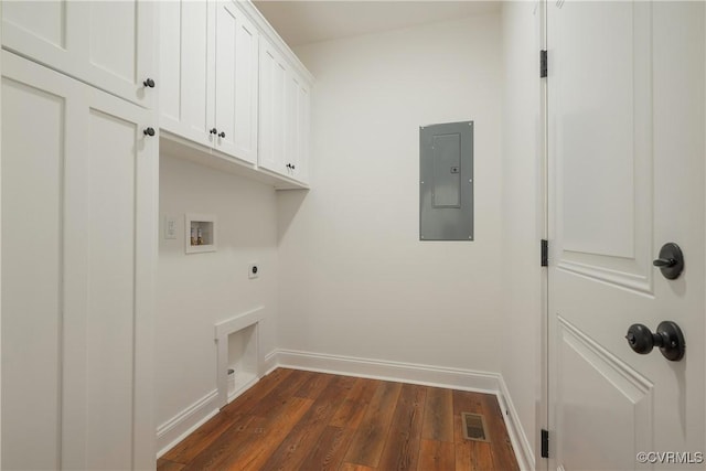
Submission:
[[[3,1],[2,47],[152,108],[154,2]]]

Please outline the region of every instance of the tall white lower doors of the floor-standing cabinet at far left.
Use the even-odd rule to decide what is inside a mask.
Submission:
[[[151,113],[2,66],[2,469],[153,468]]]

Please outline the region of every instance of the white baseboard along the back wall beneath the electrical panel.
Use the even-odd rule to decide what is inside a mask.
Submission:
[[[498,373],[357,358],[353,356],[295,350],[278,350],[275,356],[278,366],[296,370],[396,381],[424,386],[472,390],[475,393],[498,394],[500,390],[500,375]]]

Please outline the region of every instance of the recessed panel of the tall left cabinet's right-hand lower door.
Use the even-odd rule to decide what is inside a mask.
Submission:
[[[135,329],[135,174],[140,142],[132,119],[99,103],[88,114],[86,464],[130,469]]]

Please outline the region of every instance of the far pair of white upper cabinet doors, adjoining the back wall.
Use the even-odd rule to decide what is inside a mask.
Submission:
[[[308,180],[309,89],[306,78],[263,39],[258,164],[302,183]]]

